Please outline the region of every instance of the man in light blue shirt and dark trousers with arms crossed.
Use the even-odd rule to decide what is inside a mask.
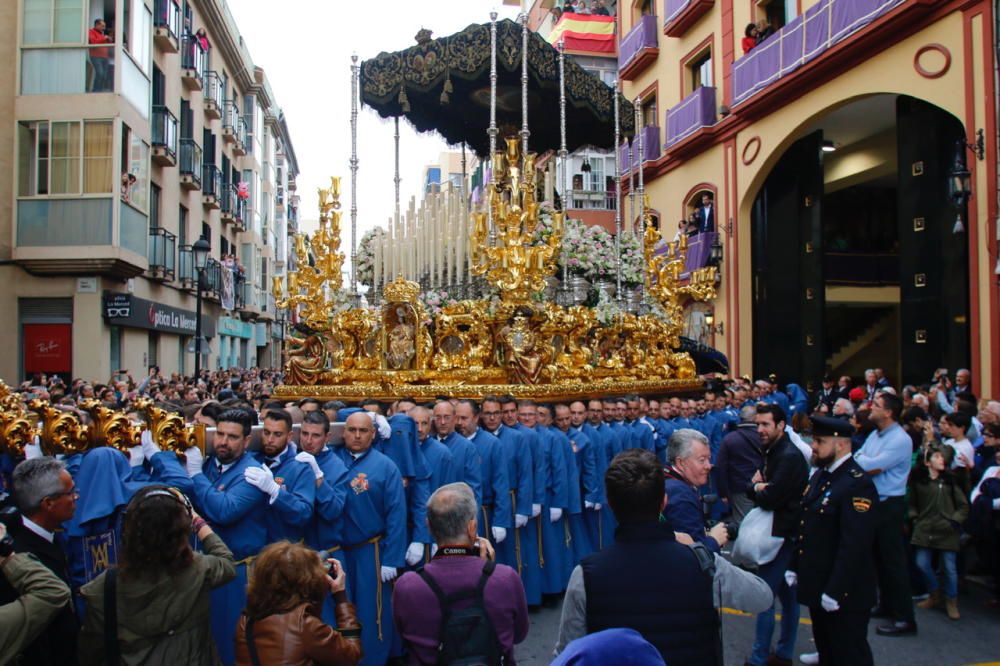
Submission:
[[[879,497],[874,507],[879,606],[872,615],[891,620],[889,624],[876,628],[880,636],[913,636],[917,633],[903,542],[903,523],[907,514],[906,482],[910,476],[913,444],[899,425],[902,412],[903,401],[900,398],[891,393],[876,393],[868,415],[875,430],[854,456],[875,482]]]

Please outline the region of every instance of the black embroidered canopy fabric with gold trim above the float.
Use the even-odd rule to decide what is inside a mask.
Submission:
[[[566,144],[614,146],[613,91],[566,58]],[[619,96],[623,137],[635,129],[632,104]],[[361,63],[361,101],[383,118],[403,116],[417,130],[434,130],[476,154],[489,152],[490,26],[462,32]],[[497,22],[497,126],[500,139],[521,129],[521,26]],[[559,52],[537,33],[528,36],[528,128],[532,151],[558,150]],[[502,144],[501,144],[502,145]]]

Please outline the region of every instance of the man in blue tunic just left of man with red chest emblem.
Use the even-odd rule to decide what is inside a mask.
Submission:
[[[347,467],[327,446],[330,419],[323,411],[307,412],[299,430],[299,449],[295,459],[309,465],[316,479],[316,505],[306,526],[306,545],[344,561],[341,550],[341,521],[347,499]],[[323,603],[323,621],[336,625],[333,596]]]

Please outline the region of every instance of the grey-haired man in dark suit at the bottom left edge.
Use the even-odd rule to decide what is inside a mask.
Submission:
[[[10,515],[7,530],[14,551],[30,553],[70,585],[66,554],[56,532],[76,511],[76,485],[65,466],[54,458],[26,460],[14,469],[14,501],[20,515]],[[10,603],[17,591],[0,578],[0,603]],[[80,627],[72,601],[22,653],[22,663],[64,666],[76,664],[76,636]]]

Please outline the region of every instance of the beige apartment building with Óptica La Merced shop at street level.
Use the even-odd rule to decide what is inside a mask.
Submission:
[[[103,380],[280,364],[298,166],[225,0],[0,8],[0,359]],[[210,245],[198,279],[193,252]]]

